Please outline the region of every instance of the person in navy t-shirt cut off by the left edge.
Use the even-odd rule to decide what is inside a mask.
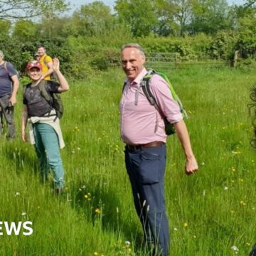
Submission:
[[[3,132],[4,118],[8,126],[7,139],[14,139],[14,104],[18,92],[18,75],[14,66],[4,60],[0,50],[0,135]]]

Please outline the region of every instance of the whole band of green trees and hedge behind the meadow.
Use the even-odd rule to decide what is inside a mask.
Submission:
[[[255,2],[117,0],[112,10],[94,1],[63,15],[65,0],[3,1],[0,48],[23,71],[36,46],[44,44],[75,79],[116,63],[120,46],[130,41],[142,43],[146,51],[177,52],[188,59],[204,55],[231,60],[239,50],[240,58],[252,62]]]

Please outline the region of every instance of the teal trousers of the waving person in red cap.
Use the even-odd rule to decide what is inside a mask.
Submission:
[[[50,124],[33,124],[33,134],[36,142],[36,154],[40,164],[40,174],[42,181],[48,178],[48,171],[53,171],[53,181],[55,188],[64,186],[64,170],[60,157],[60,147],[58,135]]]

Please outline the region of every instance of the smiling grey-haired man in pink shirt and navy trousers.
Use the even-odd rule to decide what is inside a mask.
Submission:
[[[146,69],[144,50],[129,43],[121,50],[122,68],[127,76],[120,102],[120,129],[125,146],[125,164],[132,185],[134,205],[142,223],[146,246],[154,255],[169,255],[169,228],[164,202],[166,133],[164,119],[174,124],[186,156],[186,174],[198,169],[183,122],[180,107],[166,81],[154,75],[150,89],[161,114],[150,105],[140,84]]]

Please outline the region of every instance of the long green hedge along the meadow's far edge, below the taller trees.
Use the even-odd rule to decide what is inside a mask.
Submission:
[[[197,36],[132,38],[129,33],[122,36],[118,31],[101,37],[69,36],[55,38],[54,41],[17,41],[7,35],[0,38],[0,49],[6,60],[14,63],[25,75],[28,60],[33,59],[36,46],[43,44],[47,53],[60,59],[63,73],[74,80],[87,78],[95,70],[107,70],[119,65],[119,50],[125,43],[136,42],[143,46],[146,53],[178,53],[183,60],[223,59],[232,60],[235,50],[240,51],[240,58],[255,59],[256,37],[246,33],[235,34],[219,31],[215,36],[203,33]],[[252,63],[248,61],[247,63]]]

